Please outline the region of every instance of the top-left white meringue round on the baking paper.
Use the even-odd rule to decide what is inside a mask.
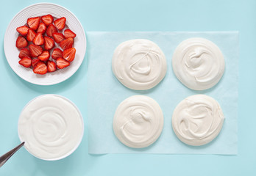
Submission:
[[[166,75],[166,57],[150,40],[128,40],[115,48],[112,70],[129,89],[151,89]]]

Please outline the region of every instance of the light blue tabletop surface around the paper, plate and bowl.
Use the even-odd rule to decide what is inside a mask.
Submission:
[[[0,175],[256,175],[256,1],[254,0],[94,0],[49,1],[68,8],[87,31],[239,31],[238,155],[89,155],[85,74],[87,56],[68,80],[38,86],[19,78],[4,56],[4,33],[13,16],[40,1],[12,0],[0,7],[0,155],[19,144],[18,116],[38,95],[63,95],[77,104],[85,136],[77,150],[60,161],[43,161],[24,148],[0,168]]]

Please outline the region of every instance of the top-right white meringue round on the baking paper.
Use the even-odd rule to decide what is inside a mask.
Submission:
[[[175,75],[186,87],[209,89],[224,73],[224,57],[217,45],[204,38],[190,38],[180,43],[172,58]]]

